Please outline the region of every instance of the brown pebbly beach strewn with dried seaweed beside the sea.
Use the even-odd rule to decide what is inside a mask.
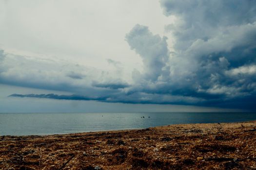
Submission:
[[[0,136],[0,170],[256,170],[256,121]]]

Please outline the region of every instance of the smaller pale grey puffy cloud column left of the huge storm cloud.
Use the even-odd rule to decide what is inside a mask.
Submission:
[[[143,60],[144,78],[156,82],[160,76],[163,76],[163,70],[169,61],[167,37],[154,35],[148,27],[137,24],[125,38],[131,49],[135,50]]]

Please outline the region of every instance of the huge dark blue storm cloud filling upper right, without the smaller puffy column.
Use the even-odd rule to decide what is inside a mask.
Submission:
[[[249,104],[256,97],[256,2],[161,0],[160,3],[164,15],[177,17],[177,23],[167,25],[166,31],[175,38],[170,67],[176,74],[171,81],[182,87],[190,85],[182,88],[183,95],[203,96],[209,99],[209,104],[226,102],[232,106],[232,101],[239,104],[240,98]],[[187,73],[177,73],[184,71]]]

